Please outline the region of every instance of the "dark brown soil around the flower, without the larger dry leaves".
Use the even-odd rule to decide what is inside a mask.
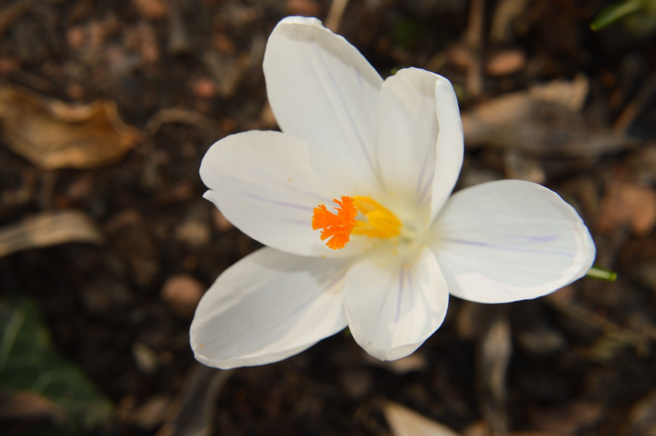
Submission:
[[[579,210],[597,263],[617,271],[617,281],[582,279],[502,306],[451,298],[444,325],[409,367],[374,361],[337,334],[281,363],[226,374],[218,397],[193,382],[197,371],[206,385],[218,373],[194,363],[193,311],[162,289],[180,274],[207,288],[258,248],[202,199],[199,164],[226,134],[275,129],[261,68],[266,38],[290,14],[325,19],[331,2],[34,0],[7,18],[19,3],[0,4],[0,81],[65,102],[113,100],[127,124],[146,132],[119,163],[93,170],[39,169],[0,139],[0,228],[74,208],[106,239],[0,258],[0,297],[33,297],[54,344],[117,406],[111,422],[83,434],[192,434],[186,426],[200,420],[216,435],[391,435],[382,406],[393,401],[470,436],[656,435],[656,93],[646,86],[655,80],[656,44],[621,24],[593,33],[591,20],[609,2],[485,2],[479,56],[523,58],[500,60],[501,73],[483,69],[478,94],[467,84],[477,58],[467,45],[468,2],[354,0],[339,33],[383,77],[404,66],[445,75],[463,112],[537,83],[586,77],[583,119],[634,145],[584,157],[523,151],[519,159]],[[521,9],[506,35],[493,37],[510,3]],[[186,115],[154,127],[171,108]],[[630,122],[620,129],[621,117]],[[513,150],[468,148],[461,186],[512,176]],[[193,307],[192,291],[175,301]],[[499,325],[508,334],[495,339]],[[505,363],[484,350],[495,340],[510,341]],[[505,374],[500,387],[491,382],[494,365]],[[198,407],[169,408],[173,399],[190,401],[190,386]],[[178,433],[165,433],[171,423]],[[9,435],[31,428],[7,425]]]

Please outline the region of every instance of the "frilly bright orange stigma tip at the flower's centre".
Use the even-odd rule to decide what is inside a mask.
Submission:
[[[321,241],[328,239],[326,245],[333,250],[344,248],[346,243],[351,240],[351,232],[356,226],[356,216],[358,209],[353,205],[353,199],[342,195],[342,201],[333,199],[338,207],[337,214],[328,210],[325,205],[319,205],[314,208],[312,215],[312,229],[321,230]]]

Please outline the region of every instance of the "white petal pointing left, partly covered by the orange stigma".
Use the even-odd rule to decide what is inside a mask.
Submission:
[[[205,197],[241,231],[264,245],[306,256],[351,256],[371,244],[352,237],[331,250],[312,230],[312,209],[342,195],[371,195],[361,175],[338,159],[281,132],[226,136],[203,157]]]

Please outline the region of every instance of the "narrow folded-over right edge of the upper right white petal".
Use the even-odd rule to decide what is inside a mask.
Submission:
[[[432,216],[436,216],[440,212],[458,181],[464,151],[458,99],[451,82],[444,77],[438,76],[438,81],[435,83],[435,98],[440,133],[438,134],[435,176],[432,186]]]

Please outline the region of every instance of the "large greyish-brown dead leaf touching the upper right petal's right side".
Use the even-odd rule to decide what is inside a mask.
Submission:
[[[532,155],[591,157],[631,148],[635,140],[593,125],[579,112],[587,81],[554,81],[493,98],[462,114],[465,144]]]

